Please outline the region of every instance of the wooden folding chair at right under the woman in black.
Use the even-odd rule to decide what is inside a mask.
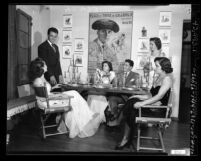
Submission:
[[[165,129],[170,125],[171,123],[171,109],[172,109],[172,90],[170,93],[169,103],[167,106],[154,106],[154,105],[147,105],[139,108],[139,117],[136,117],[136,123],[137,123],[137,151],[139,150],[157,150],[165,152],[165,146],[163,142],[163,134]],[[142,109],[149,108],[149,109],[166,109],[165,117],[163,118],[155,118],[155,117],[142,117]],[[141,136],[141,125],[142,124],[152,124],[152,127],[157,131],[158,136],[157,138],[154,138],[153,136]],[[141,139],[148,139],[148,140],[158,140],[160,142],[161,148],[155,148],[155,147],[146,147],[141,146]]]

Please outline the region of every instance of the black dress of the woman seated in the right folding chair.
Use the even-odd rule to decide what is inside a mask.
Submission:
[[[152,86],[150,90],[152,97],[158,93],[159,89],[160,89],[160,86],[156,86],[156,87]],[[169,89],[166,92],[166,94],[163,96],[163,98],[160,100],[162,105],[164,106],[168,104],[170,90],[171,89]],[[126,123],[128,124],[128,126],[132,129],[135,126],[135,118],[136,116],[138,116],[138,109],[135,109],[133,106],[136,102],[141,102],[141,100],[138,98],[129,99],[123,108],[124,119]],[[166,114],[166,109],[155,109],[154,111],[152,111],[151,109],[142,109],[142,116],[165,117],[165,114]]]

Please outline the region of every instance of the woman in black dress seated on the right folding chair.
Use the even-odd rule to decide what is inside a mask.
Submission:
[[[138,115],[139,107],[149,104],[168,104],[172,87],[172,79],[170,73],[172,73],[173,69],[171,67],[171,62],[166,57],[156,57],[154,59],[154,63],[156,65],[155,72],[158,74],[158,78],[155,80],[150,90],[150,94],[131,96],[125,104],[122,113],[125,121],[124,135],[121,142],[115,147],[116,150],[122,150],[124,147],[130,146],[135,129],[135,118]],[[164,117],[165,112],[166,109],[144,109],[142,111],[142,116],[148,115],[152,117]]]

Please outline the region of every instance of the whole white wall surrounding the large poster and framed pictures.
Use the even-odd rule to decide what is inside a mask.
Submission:
[[[191,19],[189,14],[190,5],[166,5],[166,6],[64,6],[54,5],[48,6],[49,10],[40,12],[40,7],[32,8],[20,6],[33,18],[33,33],[39,32],[42,35],[42,41],[46,39],[46,32],[49,27],[56,27],[59,30],[58,46],[60,50],[60,58],[62,71],[67,71],[69,59],[62,58],[62,30],[63,30],[63,15],[69,13],[73,15],[72,40],[74,38],[84,38],[84,66],[80,68],[81,79],[86,78],[87,62],[88,62],[88,31],[89,31],[89,13],[90,12],[119,12],[133,11],[133,32],[132,32],[132,54],[131,59],[136,62],[137,58],[137,43],[141,36],[143,26],[147,29],[148,37],[157,37],[159,31],[159,14],[160,11],[172,12],[172,25],[170,36],[170,56],[172,56],[172,65],[174,68],[174,93],[173,93],[173,113],[172,117],[178,117],[179,111],[179,91],[180,91],[180,70],[181,70],[181,51],[182,51],[182,27],[184,19]],[[32,38],[34,40],[34,38]],[[72,42],[72,46],[74,42]],[[38,45],[38,44],[37,44]],[[32,48],[33,55],[37,54],[36,46]],[[136,70],[136,68],[134,68]]]

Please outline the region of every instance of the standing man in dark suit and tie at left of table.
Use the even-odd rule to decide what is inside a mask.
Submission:
[[[49,28],[47,36],[48,39],[38,46],[38,56],[47,64],[45,79],[54,86],[57,83],[63,83],[59,49],[55,44],[58,30],[54,27]]]

